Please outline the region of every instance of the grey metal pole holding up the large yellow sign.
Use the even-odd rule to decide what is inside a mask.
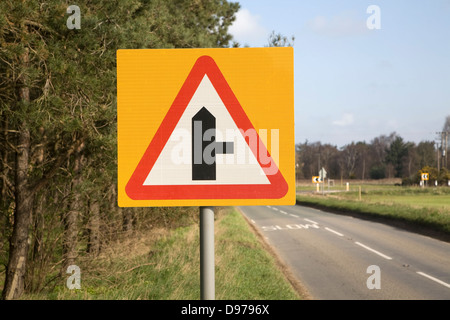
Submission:
[[[214,207],[200,207],[200,299],[215,300]]]

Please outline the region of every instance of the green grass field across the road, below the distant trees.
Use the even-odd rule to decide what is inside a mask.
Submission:
[[[297,195],[300,204],[407,222],[450,234],[450,188],[361,186],[328,195]]]

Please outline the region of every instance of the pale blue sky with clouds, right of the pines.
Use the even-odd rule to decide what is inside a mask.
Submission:
[[[450,115],[450,0],[242,0],[241,45],[294,36],[296,143],[342,147],[392,132],[438,139]],[[369,29],[370,5],[380,29]]]

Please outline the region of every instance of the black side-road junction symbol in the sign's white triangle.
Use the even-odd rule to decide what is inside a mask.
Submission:
[[[216,154],[232,154],[233,142],[216,142],[216,118],[201,108],[192,117],[192,180],[216,180]]]

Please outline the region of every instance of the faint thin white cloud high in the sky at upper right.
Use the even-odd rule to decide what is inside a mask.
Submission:
[[[369,30],[366,20],[353,12],[340,13],[331,18],[316,16],[306,25],[314,33],[331,37],[355,36]]]

